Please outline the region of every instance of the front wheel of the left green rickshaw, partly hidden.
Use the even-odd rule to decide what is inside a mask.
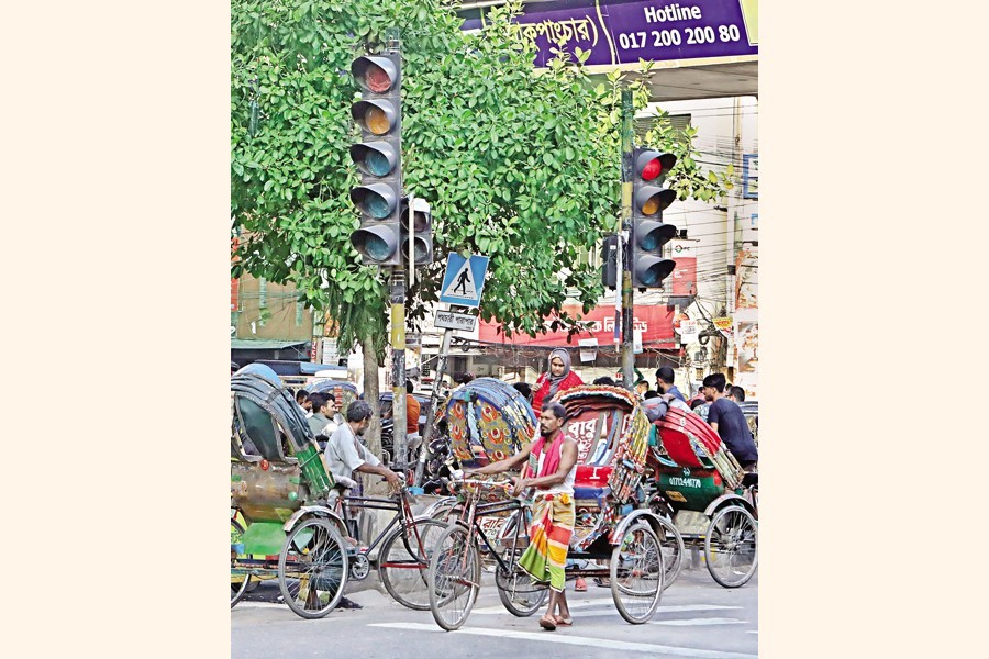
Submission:
[[[381,545],[378,577],[396,602],[415,611],[429,611],[430,558],[446,524],[418,520],[399,526]]]

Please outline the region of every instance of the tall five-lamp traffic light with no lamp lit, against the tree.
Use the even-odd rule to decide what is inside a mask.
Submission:
[[[351,159],[360,170],[360,185],[351,190],[360,227],[351,243],[366,265],[400,265],[401,55],[390,51],[358,57],[351,72],[362,89],[360,100],[351,108],[360,126],[360,142],[351,146]]]

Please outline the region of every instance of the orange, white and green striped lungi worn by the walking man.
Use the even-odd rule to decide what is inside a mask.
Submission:
[[[519,567],[540,583],[563,592],[570,536],[574,535],[574,498],[569,494],[537,494],[532,504],[529,548]]]

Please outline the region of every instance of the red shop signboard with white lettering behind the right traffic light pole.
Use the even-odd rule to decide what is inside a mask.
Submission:
[[[564,311],[570,315],[581,316],[582,321],[590,322],[591,331],[575,334],[569,344],[567,343],[567,333],[563,331],[547,332],[546,334],[541,334],[535,338],[531,338],[530,336],[526,336],[524,334],[521,336],[513,335],[511,338],[505,338],[503,334],[498,333],[498,330],[501,326],[500,323],[486,323],[485,321],[481,321],[478,327],[477,338],[478,340],[487,343],[560,347],[576,346],[579,339],[591,337],[597,338],[598,344],[602,346],[607,346],[613,343],[613,305],[599,305],[593,308],[590,313],[587,314],[581,314],[579,306],[564,306]],[[632,328],[642,331],[643,344],[658,343],[660,345],[668,344],[669,347],[674,347],[675,342],[673,340],[673,309],[666,306],[665,304],[655,306],[635,306]],[[549,322],[546,323],[547,326]]]

